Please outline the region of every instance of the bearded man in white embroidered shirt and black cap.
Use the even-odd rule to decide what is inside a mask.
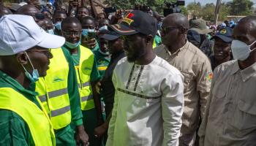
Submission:
[[[116,93],[107,145],[178,145],[183,76],[153,52],[157,21],[135,10],[111,28],[124,35],[127,57],[113,71]]]

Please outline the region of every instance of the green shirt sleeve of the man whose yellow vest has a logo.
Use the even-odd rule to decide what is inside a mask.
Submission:
[[[62,47],[61,49],[65,55],[67,63],[69,64],[69,74],[67,77],[67,91],[69,94],[69,104],[72,115],[72,122],[75,123],[75,126],[80,126],[83,125],[83,115],[80,109],[80,95],[78,91],[78,80],[76,78],[75,66],[72,61],[71,55],[69,54],[69,51]],[[69,128],[61,128],[57,130],[56,137],[61,136],[66,131],[69,131]]]

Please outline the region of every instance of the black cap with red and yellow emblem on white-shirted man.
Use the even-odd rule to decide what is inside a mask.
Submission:
[[[111,25],[116,33],[127,36],[131,34],[151,34],[153,37],[157,34],[157,20],[146,12],[134,10],[127,13],[121,23]]]

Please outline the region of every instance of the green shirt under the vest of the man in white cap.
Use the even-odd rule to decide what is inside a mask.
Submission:
[[[0,71],[0,88],[12,88],[41,108],[36,99],[35,83],[25,89],[12,77]],[[29,126],[15,112],[0,110],[0,129],[0,145],[34,145]]]

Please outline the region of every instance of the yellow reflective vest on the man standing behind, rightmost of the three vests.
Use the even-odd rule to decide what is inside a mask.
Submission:
[[[90,110],[95,107],[90,84],[93,65],[94,54],[88,48],[80,45],[80,61],[79,66],[76,67],[76,72],[81,98],[81,110]]]

